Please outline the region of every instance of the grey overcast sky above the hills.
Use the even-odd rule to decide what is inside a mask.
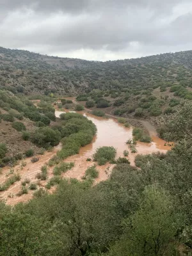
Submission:
[[[0,46],[85,60],[192,50],[191,0],[0,0]]]

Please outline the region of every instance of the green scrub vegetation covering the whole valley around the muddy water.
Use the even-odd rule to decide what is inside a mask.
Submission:
[[[35,155],[35,145],[41,150],[62,144],[36,175],[38,182],[46,180],[45,188],[21,180],[17,195],[34,191],[33,200],[13,207],[0,202],[0,255],[191,256],[192,52],[106,63],[45,58],[1,47],[0,53],[1,125],[9,125],[29,145],[22,154],[8,156],[10,145],[1,140],[1,166]],[[127,150],[115,160],[115,148],[101,147],[93,161],[116,164],[108,180],[93,186],[95,165],[85,170],[81,182],[61,179],[74,166],[63,159],[78,154],[97,129],[77,113],[61,114],[56,122],[51,105],[56,92],[78,93],[76,100],[93,108],[93,115],[102,116],[105,108],[127,126],[129,116],[153,120],[159,136],[174,142],[172,150],[138,155],[133,167]],[[31,95],[27,99],[24,94]],[[38,108],[33,99],[41,100]],[[72,102],[61,99],[59,104],[62,108]],[[132,153],[136,140],[151,141],[143,129],[135,128],[132,134],[134,140],[127,141]],[[51,167],[54,176],[48,179]],[[0,190],[19,180],[10,170]],[[55,185],[56,191],[47,193]]]

